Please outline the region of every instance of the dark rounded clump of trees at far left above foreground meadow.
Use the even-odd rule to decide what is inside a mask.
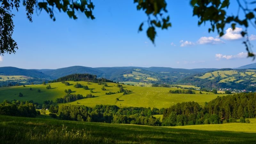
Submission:
[[[35,118],[40,114],[36,111],[36,107],[33,103],[20,102],[20,101],[7,101],[0,103],[0,114],[9,116],[21,116]]]

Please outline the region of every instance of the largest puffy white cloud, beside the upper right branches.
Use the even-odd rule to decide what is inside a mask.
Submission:
[[[241,35],[242,31],[242,28],[236,27],[233,31],[233,29],[230,27],[226,30],[226,33],[221,38],[224,40],[238,40],[243,38]]]

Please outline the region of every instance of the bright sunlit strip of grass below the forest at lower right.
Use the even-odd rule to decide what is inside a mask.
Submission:
[[[233,131],[256,133],[256,118],[249,119],[251,123],[227,123],[214,125],[191,125],[191,126],[173,126],[172,128],[193,129],[193,130],[207,130],[207,131]]]

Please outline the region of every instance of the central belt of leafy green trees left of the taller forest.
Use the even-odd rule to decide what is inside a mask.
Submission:
[[[152,117],[159,114],[154,108],[126,107],[119,108],[116,105],[96,105],[86,107],[82,105],[60,105],[59,118],[65,120],[106,122],[118,124],[138,124],[148,126],[160,126],[160,119]]]

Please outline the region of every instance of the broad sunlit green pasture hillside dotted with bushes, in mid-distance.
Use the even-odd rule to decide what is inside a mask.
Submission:
[[[69,81],[71,84],[76,84],[77,82]],[[75,102],[71,102],[69,104],[77,104],[86,105],[86,106],[95,106],[97,104],[111,104],[117,105],[119,107],[156,107],[163,108],[169,107],[170,105],[181,103],[181,102],[189,102],[195,101],[199,104],[204,104],[204,102],[211,101],[216,98],[219,94],[215,95],[212,93],[206,94],[206,92],[202,92],[203,94],[199,94],[199,91],[196,91],[196,94],[171,94],[169,90],[177,90],[177,88],[163,88],[163,87],[138,87],[138,86],[129,86],[124,85],[124,89],[132,90],[132,92],[128,95],[123,95],[123,93],[116,93],[112,95],[106,95],[106,92],[112,91],[117,92],[119,88],[116,86],[116,83],[107,83],[108,87],[105,87],[107,90],[101,90],[102,85],[98,85],[98,83],[87,84],[87,82],[78,82],[82,85],[87,85],[90,89],[93,89],[93,95],[97,97],[93,98],[85,98],[80,99]],[[83,88],[74,88],[73,85],[66,86],[63,83],[51,83],[52,89],[47,90],[47,85],[27,85],[23,86],[12,86],[12,87],[1,87],[0,88],[0,101],[4,99],[7,100],[33,100],[34,102],[38,102],[42,104],[44,100],[53,100],[56,98],[65,96],[65,89],[71,89],[74,94],[82,94],[86,96],[86,94],[90,94],[90,90],[84,90]],[[32,88],[32,90],[29,90]],[[40,89],[41,92],[37,92]],[[179,89],[180,90],[180,89]],[[19,92],[23,94],[23,97],[18,97]],[[223,95],[219,95],[223,96]],[[119,98],[120,101],[116,101],[116,98]]]

